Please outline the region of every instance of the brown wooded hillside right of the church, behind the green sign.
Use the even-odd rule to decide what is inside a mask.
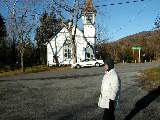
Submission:
[[[127,36],[112,43],[101,44],[102,58],[111,56],[117,62],[138,61],[138,50],[133,52],[133,46],[142,46],[141,61],[160,60],[160,29],[146,31]]]

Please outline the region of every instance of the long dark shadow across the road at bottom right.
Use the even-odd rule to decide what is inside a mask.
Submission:
[[[160,96],[160,86],[150,91],[146,96],[137,101],[135,108],[125,117],[124,120],[131,120],[138,112],[146,108],[151,102]]]

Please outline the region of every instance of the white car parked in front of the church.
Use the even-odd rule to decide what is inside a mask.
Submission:
[[[75,64],[72,64],[71,67],[72,68],[91,67],[91,66],[100,67],[102,65],[104,65],[103,60],[85,59],[81,62],[77,62]]]

